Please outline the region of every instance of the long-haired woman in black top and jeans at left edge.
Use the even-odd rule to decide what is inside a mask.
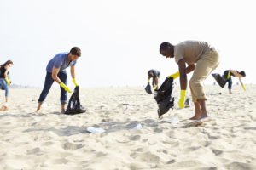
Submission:
[[[3,65],[0,65],[0,89],[5,90],[5,103],[8,102],[8,95],[9,95],[9,69],[13,65],[11,60],[6,61]],[[7,105],[2,105],[0,111],[6,111]]]

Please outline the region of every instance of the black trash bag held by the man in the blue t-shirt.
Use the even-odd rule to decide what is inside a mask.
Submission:
[[[84,107],[80,104],[79,86],[77,86],[74,89],[74,92],[68,101],[68,105],[67,105],[65,114],[66,115],[75,115],[75,114],[84,113],[85,111],[86,110],[84,109]]]

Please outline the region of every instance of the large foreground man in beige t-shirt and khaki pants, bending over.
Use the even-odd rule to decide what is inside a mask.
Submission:
[[[192,120],[199,120],[207,117],[206,95],[204,93],[202,82],[217,68],[219,63],[218,53],[211,48],[207,42],[185,41],[173,46],[169,42],[160,44],[160,54],[166,58],[174,58],[179,72],[170,77],[180,76],[180,99],[178,105],[184,107],[184,100],[187,89],[187,74],[194,71],[189,81],[189,87],[192,99],[195,105],[195,116]],[[188,65],[186,67],[186,64]]]

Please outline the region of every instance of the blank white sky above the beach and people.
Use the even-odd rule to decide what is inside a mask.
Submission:
[[[80,86],[142,86],[151,68],[161,81],[177,71],[161,42],[201,40],[219,51],[215,72],[246,71],[243,82],[256,83],[255,16],[253,0],[0,0],[0,63],[14,61],[14,83],[42,87],[49,59],[78,46]]]

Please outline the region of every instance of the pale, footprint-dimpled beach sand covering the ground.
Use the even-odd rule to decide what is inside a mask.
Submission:
[[[0,169],[256,169],[255,85],[234,86],[234,94],[207,86],[212,121],[189,128],[193,106],[175,105],[158,119],[143,88],[82,88],[87,111],[75,116],[60,114],[59,91],[35,113],[41,89],[10,89],[9,111],[0,112]]]

